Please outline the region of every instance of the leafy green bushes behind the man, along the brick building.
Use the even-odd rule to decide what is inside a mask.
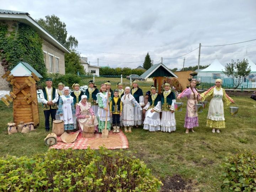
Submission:
[[[81,78],[78,75],[74,75],[74,74],[59,74],[59,73],[54,73],[54,74],[48,74],[47,77],[50,77],[53,79],[53,87],[58,88],[58,83],[59,82],[63,82],[65,86],[69,86],[71,88],[71,86],[74,83],[81,83]],[[43,87],[46,87],[45,84],[45,79],[41,79],[38,84],[37,84],[37,88],[38,89],[42,89]]]

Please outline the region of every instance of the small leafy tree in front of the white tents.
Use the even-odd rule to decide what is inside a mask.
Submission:
[[[231,63],[225,66],[225,71],[223,71],[229,78],[233,79],[234,89],[238,88],[242,84],[245,76],[249,75],[251,72],[251,67],[249,66],[248,60],[244,59],[239,62],[234,62],[231,60]]]

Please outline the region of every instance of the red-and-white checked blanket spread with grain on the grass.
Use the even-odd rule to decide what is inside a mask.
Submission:
[[[112,130],[108,133],[107,139],[102,139],[101,133],[95,133],[94,138],[83,138],[79,133],[74,143],[64,143],[57,137],[57,144],[50,146],[54,149],[87,149],[90,146],[91,149],[99,149],[99,146],[105,146],[107,149],[128,149],[129,144],[126,135],[120,130],[120,133],[112,133]]]

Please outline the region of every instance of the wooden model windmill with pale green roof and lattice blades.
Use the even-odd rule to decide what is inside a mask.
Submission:
[[[1,100],[5,105],[9,106],[9,102],[13,102],[14,122],[19,124],[21,121],[25,123],[34,122],[34,126],[39,125],[39,112],[37,103],[36,81],[42,76],[25,62],[18,64],[11,70],[7,71],[3,76],[6,81],[12,85],[10,95],[5,95]]]

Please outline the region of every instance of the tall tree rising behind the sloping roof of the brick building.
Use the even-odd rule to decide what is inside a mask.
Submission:
[[[59,17],[55,15],[47,15],[45,16],[45,19],[39,18],[37,22],[46,31],[52,34],[52,36],[55,37],[60,43],[69,49],[78,47],[78,40],[75,37],[69,36],[67,38],[68,32],[66,30],[66,24],[60,21]]]

